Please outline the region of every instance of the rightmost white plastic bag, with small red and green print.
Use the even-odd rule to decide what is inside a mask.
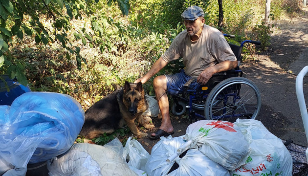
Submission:
[[[245,164],[231,171],[232,176],[292,176],[292,157],[284,143],[257,120],[237,119],[251,147]]]

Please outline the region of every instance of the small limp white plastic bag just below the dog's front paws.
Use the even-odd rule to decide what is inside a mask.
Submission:
[[[123,150],[123,157],[126,158],[126,160],[129,160],[129,166],[145,171],[145,164],[147,163],[150,154],[137,140],[129,137]]]

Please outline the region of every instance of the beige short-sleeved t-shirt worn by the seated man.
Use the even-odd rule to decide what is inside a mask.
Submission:
[[[161,57],[168,63],[182,57],[185,74],[194,77],[199,76],[206,67],[226,60],[237,60],[222,33],[206,24],[195,42],[191,41],[187,30],[179,33]]]

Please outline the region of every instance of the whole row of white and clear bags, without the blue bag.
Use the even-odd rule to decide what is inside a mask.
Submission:
[[[74,144],[66,154],[48,163],[50,175],[292,175],[292,158],[283,142],[257,120],[198,121],[187,128],[184,136],[161,137],[151,155],[131,138],[124,148],[118,139],[110,143],[113,144]]]

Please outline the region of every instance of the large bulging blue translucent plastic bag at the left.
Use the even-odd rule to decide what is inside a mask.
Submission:
[[[75,99],[53,92],[26,92],[6,113],[8,120],[0,126],[0,156],[20,169],[65,153],[85,120]]]

